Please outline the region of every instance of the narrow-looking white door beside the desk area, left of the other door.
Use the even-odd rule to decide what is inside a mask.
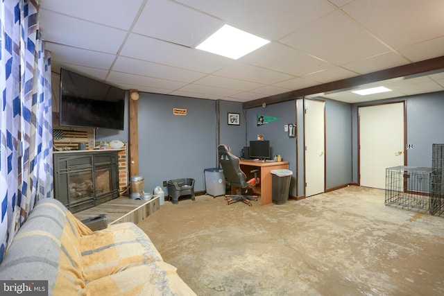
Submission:
[[[325,191],[325,102],[305,100],[305,196]]]

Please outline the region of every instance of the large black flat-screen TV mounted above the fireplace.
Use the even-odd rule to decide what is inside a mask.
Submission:
[[[60,126],[123,130],[125,91],[60,69]]]

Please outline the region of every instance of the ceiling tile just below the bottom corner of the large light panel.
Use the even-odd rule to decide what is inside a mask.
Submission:
[[[250,64],[241,64],[240,62],[230,64],[229,66],[214,72],[214,75],[257,82],[264,85],[272,85],[277,82],[294,78],[294,76],[284,73],[255,67]]]

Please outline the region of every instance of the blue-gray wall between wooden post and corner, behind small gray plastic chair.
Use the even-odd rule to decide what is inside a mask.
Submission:
[[[141,93],[138,104],[145,190],[182,178],[193,178],[195,191],[205,190],[204,169],[215,164],[216,101]],[[187,116],[173,115],[173,108],[187,109]]]

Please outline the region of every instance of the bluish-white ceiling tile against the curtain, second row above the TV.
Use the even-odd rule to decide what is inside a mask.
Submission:
[[[86,49],[77,49],[56,43],[46,42],[45,49],[51,51],[51,62],[64,62],[78,66],[109,69],[114,62],[115,55],[99,53]]]

